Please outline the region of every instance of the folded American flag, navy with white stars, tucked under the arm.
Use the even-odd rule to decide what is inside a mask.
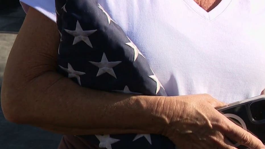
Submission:
[[[167,96],[146,58],[97,0],[55,0],[58,72],[82,87]],[[78,136],[107,149],[174,149],[157,134]]]

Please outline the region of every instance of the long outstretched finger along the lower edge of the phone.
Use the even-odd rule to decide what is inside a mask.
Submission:
[[[254,135],[239,127],[238,125],[227,119],[225,116],[223,116],[223,119],[225,121],[225,136],[237,141],[241,145],[247,146],[252,149],[264,148],[263,143]]]

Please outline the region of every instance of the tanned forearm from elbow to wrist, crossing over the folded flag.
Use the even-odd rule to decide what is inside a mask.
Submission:
[[[36,77],[17,98],[6,104],[18,123],[68,134],[160,133],[167,122],[164,97],[91,90],[55,72]]]

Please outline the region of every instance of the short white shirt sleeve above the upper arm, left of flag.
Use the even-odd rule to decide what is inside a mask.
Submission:
[[[20,4],[26,13],[31,6],[56,22],[55,0],[20,0]]]

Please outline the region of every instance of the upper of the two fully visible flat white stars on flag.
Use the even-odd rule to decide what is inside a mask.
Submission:
[[[92,44],[91,44],[88,36],[90,36],[91,34],[96,32],[97,30],[83,30],[82,27],[80,26],[80,23],[77,21],[75,30],[65,29],[65,31],[74,36],[73,45],[80,42],[80,41],[84,41],[87,45],[92,47]]]

